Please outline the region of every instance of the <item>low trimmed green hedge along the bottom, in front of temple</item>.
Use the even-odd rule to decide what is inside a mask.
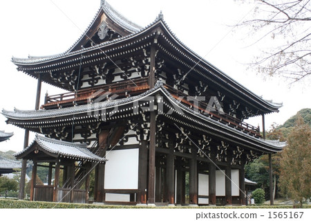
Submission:
[[[145,209],[152,208],[147,206],[109,206],[109,205],[98,205],[98,204],[70,204],[70,203],[55,203],[55,202],[33,202],[27,200],[6,200],[0,199],[0,208],[1,209]],[[198,207],[190,207],[190,206],[175,206],[175,207],[154,207],[157,209],[202,209],[202,208],[218,208],[218,209],[244,209],[244,208],[252,208],[252,209],[292,209],[293,206],[269,206],[269,205],[261,205],[261,206],[198,206]],[[311,205],[303,205],[303,208],[311,209]]]

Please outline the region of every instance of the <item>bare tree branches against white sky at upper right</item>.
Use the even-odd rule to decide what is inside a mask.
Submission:
[[[255,3],[252,19],[241,26],[252,28],[254,44],[267,49],[253,63],[260,73],[282,76],[297,82],[310,80],[311,3],[310,0],[245,0]],[[263,46],[262,46],[263,48]]]

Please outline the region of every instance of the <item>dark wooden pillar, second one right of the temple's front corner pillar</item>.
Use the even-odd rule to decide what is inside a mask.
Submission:
[[[198,164],[194,150],[189,163],[189,204],[198,204]]]

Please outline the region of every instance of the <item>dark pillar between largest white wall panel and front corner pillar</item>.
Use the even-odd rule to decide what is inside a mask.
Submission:
[[[148,173],[148,149],[147,141],[142,141],[138,158],[138,202],[147,204],[147,173]]]

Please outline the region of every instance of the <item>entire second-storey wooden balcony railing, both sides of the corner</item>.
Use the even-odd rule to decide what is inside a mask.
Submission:
[[[261,132],[259,127],[254,127],[248,123],[241,121],[238,118],[230,116],[225,112],[214,112],[209,110],[208,103],[196,100],[187,94],[164,85],[164,88],[169,91],[169,94],[176,100],[179,100],[183,105],[198,111],[200,114],[204,114],[212,118],[215,121],[228,125],[236,130],[242,131],[245,134],[261,138]],[[75,105],[86,105],[94,102],[102,102],[109,99],[120,99],[129,96],[135,96],[142,94],[149,90],[148,78],[140,78],[136,80],[126,80],[124,82],[117,82],[111,85],[102,85],[100,87],[92,87],[90,89],[81,89],[77,92],[68,92],[64,94],[57,94],[53,96],[46,95],[45,103],[41,106],[41,109],[59,109],[66,107],[73,107]]]

